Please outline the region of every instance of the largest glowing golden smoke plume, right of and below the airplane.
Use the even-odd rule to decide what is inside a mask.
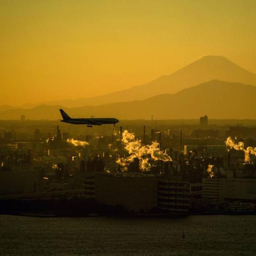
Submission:
[[[160,150],[159,143],[154,141],[151,145],[142,145],[141,140],[136,139],[134,133],[130,133],[127,130],[123,132],[122,143],[130,155],[118,158],[116,162],[123,166],[125,170],[134,158],[141,160],[142,170],[148,170],[151,167],[151,164],[148,162],[149,155],[153,160],[172,161],[172,158]]]

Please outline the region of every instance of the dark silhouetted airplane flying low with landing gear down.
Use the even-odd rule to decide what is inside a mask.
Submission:
[[[68,124],[87,124],[87,127],[93,127],[93,125],[102,125],[102,124],[115,124],[119,122],[116,118],[71,118],[67,113],[60,109],[60,114],[63,120],[61,122]]]

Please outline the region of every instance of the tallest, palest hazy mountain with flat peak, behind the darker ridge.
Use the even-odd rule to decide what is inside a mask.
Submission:
[[[159,94],[175,94],[183,89],[213,79],[256,86],[256,74],[247,71],[223,56],[205,56],[170,75],[161,76],[141,86],[89,99],[63,100],[44,104],[81,107],[144,100]]]

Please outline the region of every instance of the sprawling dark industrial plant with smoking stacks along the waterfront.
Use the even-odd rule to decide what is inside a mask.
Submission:
[[[22,117],[1,127],[2,213],[255,213],[254,127],[207,116],[94,130]]]

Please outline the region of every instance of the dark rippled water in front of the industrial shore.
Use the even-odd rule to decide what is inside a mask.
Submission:
[[[1,256],[88,254],[256,256],[256,215],[184,218],[0,215]]]

